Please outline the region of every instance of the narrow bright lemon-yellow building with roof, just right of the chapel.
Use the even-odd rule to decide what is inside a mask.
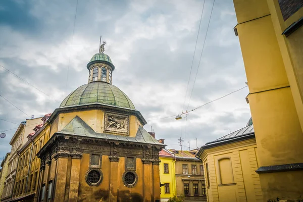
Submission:
[[[163,148],[159,152],[160,157],[160,181],[161,181],[161,201],[167,201],[170,197],[177,195],[175,162],[173,153]]]

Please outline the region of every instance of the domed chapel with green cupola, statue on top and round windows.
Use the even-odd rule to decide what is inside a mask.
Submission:
[[[112,84],[115,66],[99,53],[88,83],[71,92],[44,124],[37,201],[160,201],[159,151],[141,113]],[[45,137],[46,138],[46,137]]]

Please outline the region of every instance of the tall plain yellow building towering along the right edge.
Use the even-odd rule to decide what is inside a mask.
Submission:
[[[234,0],[234,6],[263,200],[302,200],[303,3]]]

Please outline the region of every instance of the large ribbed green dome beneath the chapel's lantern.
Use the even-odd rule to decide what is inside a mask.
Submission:
[[[135,110],[128,96],[116,86],[106,82],[90,82],[70,93],[61,103],[60,108],[103,104]]]

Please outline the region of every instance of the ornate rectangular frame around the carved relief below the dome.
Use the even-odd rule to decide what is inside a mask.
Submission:
[[[110,128],[109,127],[109,121],[108,121],[109,116],[124,119],[125,129]],[[104,131],[105,132],[111,132],[111,133],[123,134],[123,135],[129,135],[129,116],[128,115],[105,112],[105,114],[104,114]]]

